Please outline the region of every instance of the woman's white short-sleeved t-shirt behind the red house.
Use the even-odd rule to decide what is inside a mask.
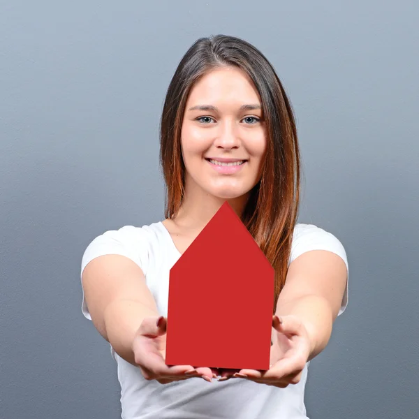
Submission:
[[[337,237],[313,224],[297,223],[289,263],[302,253],[316,249],[337,253],[348,269],[345,249]],[[84,251],[81,273],[92,259],[105,254],[123,255],[137,263],[145,274],[159,314],[167,316],[169,271],[180,253],[163,223],[142,227],[124,226],[99,235]],[[347,304],[346,284],[339,315],[344,312]],[[82,313],[91,320],[84,293]],[[145,380],[138,367],[122,359],[113,351],[112,346],[110,349],[117,362],[123,419],[307,418],[304,388],[309,362],[304,367],[300,382],[286,388],[276,388],[242,378],[227,381],[214,379],[212,383],[202,378],[189,378],[162,385],[155,380]]]

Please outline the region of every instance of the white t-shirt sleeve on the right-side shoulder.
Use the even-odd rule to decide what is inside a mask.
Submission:
[[[349,281],[349,266],[348,258],[343,244],[328,231],[314,226],[314,224],[297,224],[293,237],[293,245],[291,247],[291,263],[295,258],[302,253],[311,250],[328,250],[340,256],[346,265],[346,288],[341,302],[341,308],[338,316],[340,316],[348,305],[348,281]]]

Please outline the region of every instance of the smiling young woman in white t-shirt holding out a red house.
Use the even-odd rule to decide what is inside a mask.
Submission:
[[[82,312],[117,361],[122,417],[307,418],[307,367],[346,308],[348,261],[337,237],[296,223],[293,110],[255,47],[219,35],[186,52],[161,116],[161,165],[167,218],[108,230],[82,257]],[[276,272],[270,369],[168,367],[170,267],[226,200]],[[196,297],[212,307],[205,295]]]

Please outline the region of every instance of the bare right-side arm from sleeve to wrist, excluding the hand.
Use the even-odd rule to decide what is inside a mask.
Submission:
[[[344,260],[324,250],[302,253],[288,268],[275,314],[293,314],[302,320],[310,340],[308,360],[328,344],[344,295],[346,273]]]

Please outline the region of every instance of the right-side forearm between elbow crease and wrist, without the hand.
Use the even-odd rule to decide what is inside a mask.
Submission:
[[[332,335],[333,314],[330,304],[317,295],[304,295],[289,302],[278,300],[277,316],[293,314],[301,318],[307,332],[311,351],[309,359],[313,359],[327,346]]]

